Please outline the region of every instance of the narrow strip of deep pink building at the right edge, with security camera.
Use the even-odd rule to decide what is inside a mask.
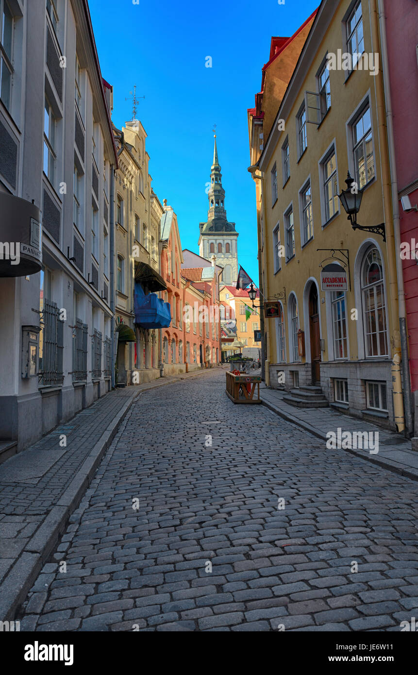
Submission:
[[[418,436],[418,2],[380,0],[386,16],[386,41],[390,99],[386,85],[386,107],[392,109],[394,157],[400,215],[400,255],[409,336],[409,367],[415,436]],[[384,32],[381,30],[384,72]],[[388,126],[390,139],[390,124]],[[394,171],[392,167],[392,181]],[[412,210],[409,210],[411,205]],[[414,208],[415,207],[415,208]],[[416,258],[416,259],[415,259]],[[417,448],[418,449],[418,448]]]

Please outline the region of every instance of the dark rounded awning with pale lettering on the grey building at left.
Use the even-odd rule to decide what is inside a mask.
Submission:
[[[0,192],[0,277],[26,277],[40,271],[41,238],[38,207]]]

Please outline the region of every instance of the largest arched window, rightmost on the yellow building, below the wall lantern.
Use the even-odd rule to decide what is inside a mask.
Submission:
[[[386,326],[386,302],[383,268],[377,248],[365,254],[361,268],[361,299],[365,331],[366,356],[388,354],[388,329]]]

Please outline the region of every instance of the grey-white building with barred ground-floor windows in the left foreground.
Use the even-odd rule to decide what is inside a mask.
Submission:
[[[41,212],[43,265],[0,271],[1,462],[111,386],[117,157],[86,0],[0,0],[0,22],[0,193]]]

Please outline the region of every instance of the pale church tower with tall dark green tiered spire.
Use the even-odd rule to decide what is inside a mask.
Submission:
[[[211,183],[208,192],[209,211],[207,222],[199,223],[199,254],[202,258],[223,267],[222,282],[227,286],[235,286],[238,278],[238,232],[235,223],[228,223],[225,209],[225,190],[222,187],[221,167],[217,157],[216,134],[211,166]]]

